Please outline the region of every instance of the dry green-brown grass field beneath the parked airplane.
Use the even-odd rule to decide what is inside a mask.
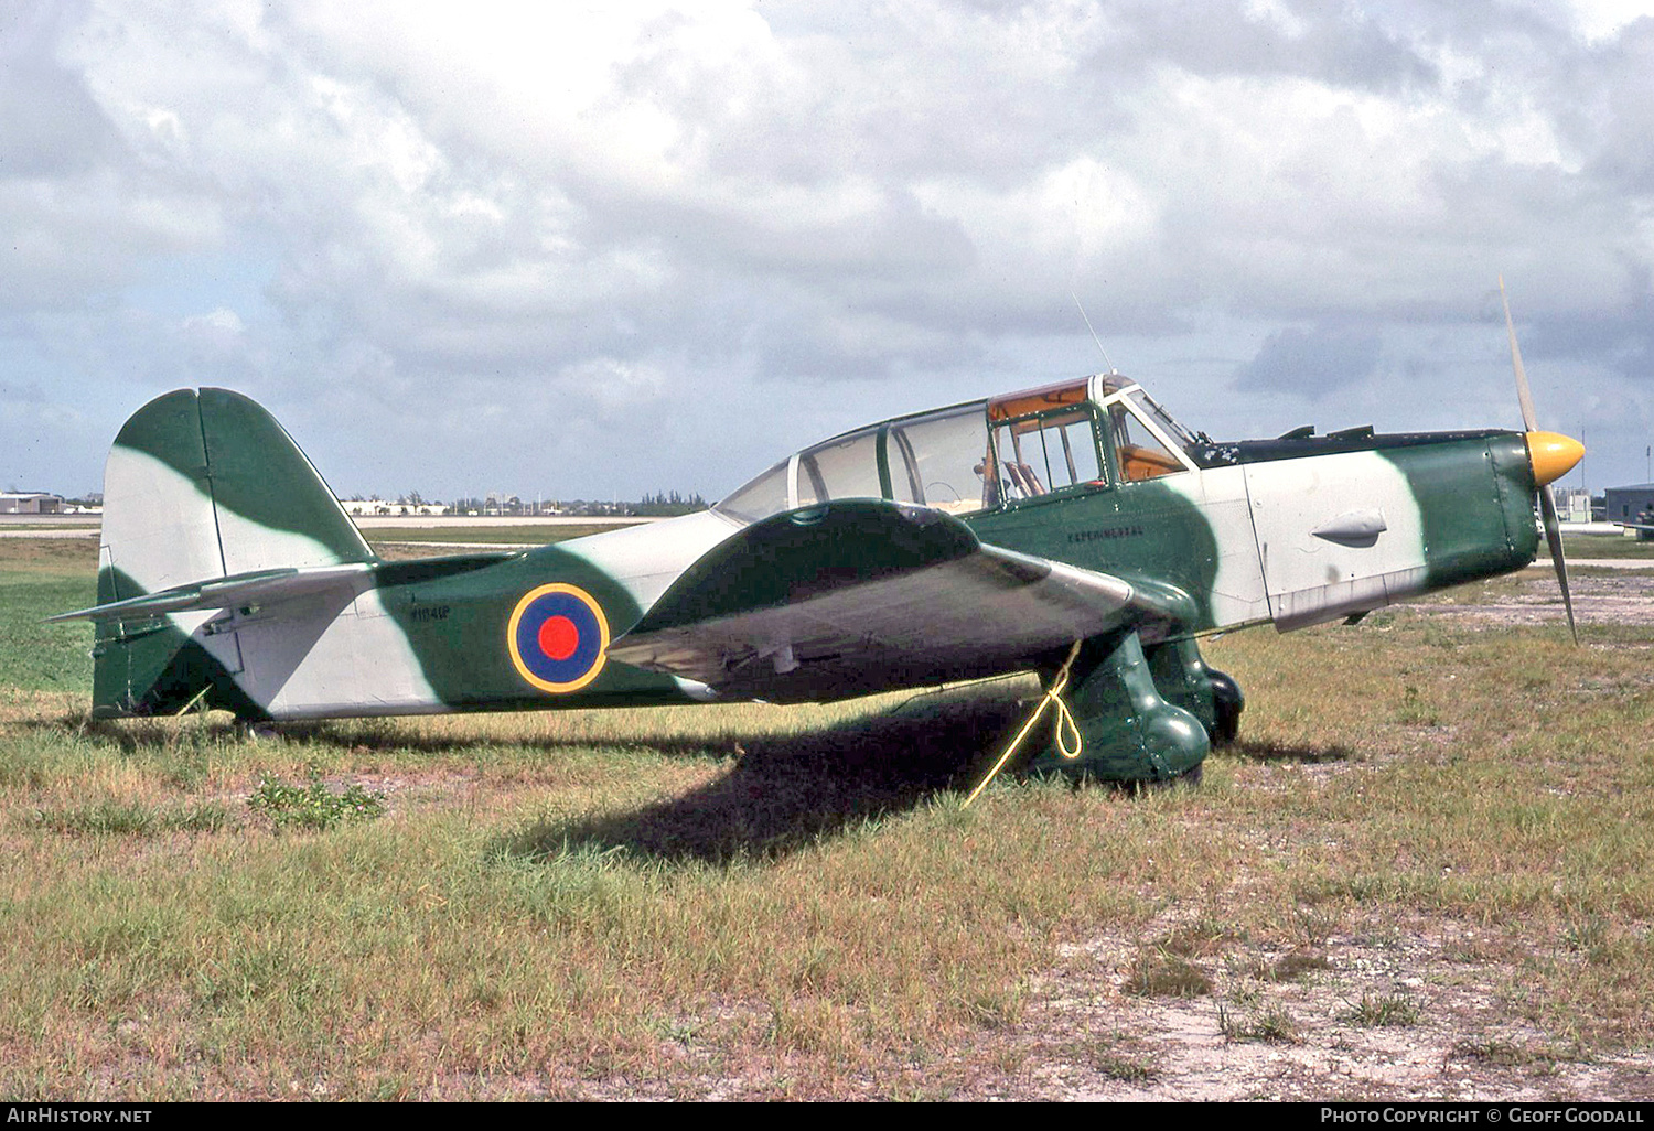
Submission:
[[[1197,790],[961,810],[1030,681],[91,724],[93,562],[0,544],[7,1098],[1647,1095],[1654,632],[1527,582],[1212,640]]]

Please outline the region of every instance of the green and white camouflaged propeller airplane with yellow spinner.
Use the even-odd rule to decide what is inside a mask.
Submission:
[[[1573,627],[1542,488],[1585,448],[1537,428],[1510,344],[1525,432],[1214,441],[1108,372],[832,437],[696,514],[418,561],[377,557],[260,405],[180,389],[109,453],[98,605],[51,620],[94,623],[98,718],[802,703],[1032,670],[1062,709],[1027,771],[1197,780],[1244,709],[1204,635],[1522,569],[1535,499]]]

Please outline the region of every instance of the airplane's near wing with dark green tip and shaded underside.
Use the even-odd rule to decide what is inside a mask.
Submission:
[[[724,541],[609,655],[796,703],[1019,671],[1078,638],[1191,618],[1169,585],[986,546],[941,511],[847,499]]]

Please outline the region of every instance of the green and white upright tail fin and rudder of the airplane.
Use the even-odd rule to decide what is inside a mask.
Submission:
[[[370,562],[372,551],[275,417],[225,389],[180,389],[121,428],[104,470],[98,604],[288,566]],[[212,706],[260,714],[237,686],[233,633],[207,613],[98,625],[99,716]]]

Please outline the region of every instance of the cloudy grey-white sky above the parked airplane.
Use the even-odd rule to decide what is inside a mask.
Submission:
[[[1110,362],[1513,428],[1500,276],[1566,483],[1646,481],[1649,10],[8,0],[0,488],[192,385],[346,498],[718,498]]]

